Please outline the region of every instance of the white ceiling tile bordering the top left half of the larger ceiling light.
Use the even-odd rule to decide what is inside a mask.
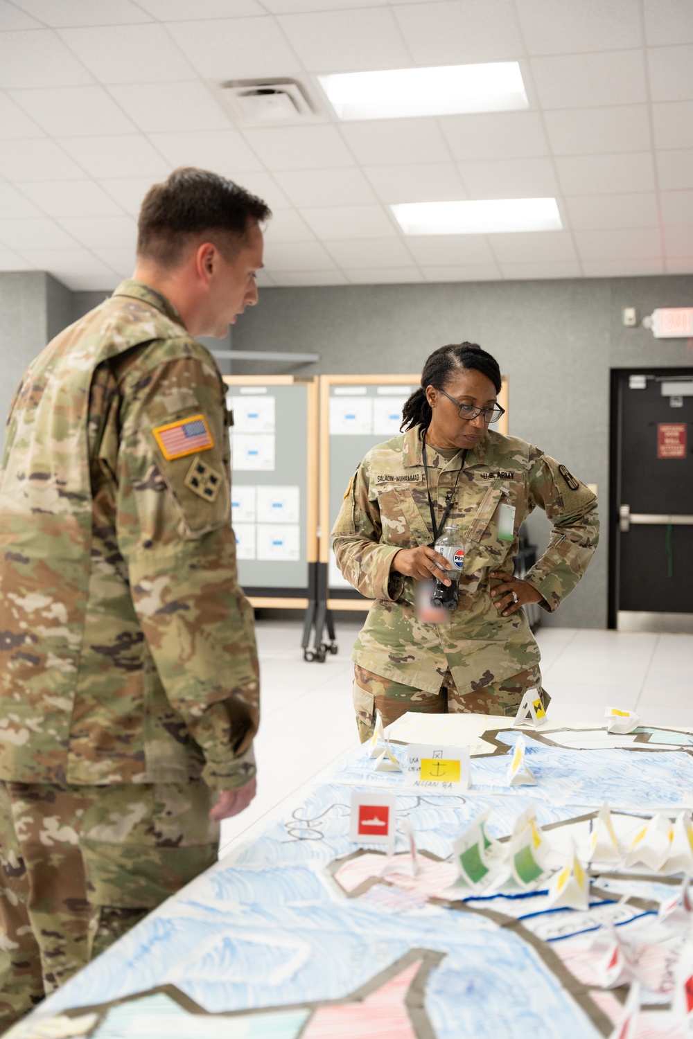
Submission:
[[[277,20],[309,72],[363,72],[411,64],[387,7],[279,15]]]

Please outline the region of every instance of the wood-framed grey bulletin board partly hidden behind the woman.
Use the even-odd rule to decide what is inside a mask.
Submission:
[[[508,432],[508,378],[498,402],[505,415],[494,429]],[[368,610],[365,598],[342,577],[329,543],[329,531],[344,491],[364,455],[399,433],[402,405],[420,385],[421,375],[320,376],[320,562],[327,565],[327,609]]]

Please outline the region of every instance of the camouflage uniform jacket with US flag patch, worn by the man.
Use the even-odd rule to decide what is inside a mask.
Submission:
[[[0,470],[0,780],[255,774],[224,390],[137,282],[27,370]]]

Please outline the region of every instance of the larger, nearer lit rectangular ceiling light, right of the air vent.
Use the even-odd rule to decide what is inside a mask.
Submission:
[[[528,108],[516,61],[318,76],[341,119],[388,119]]]

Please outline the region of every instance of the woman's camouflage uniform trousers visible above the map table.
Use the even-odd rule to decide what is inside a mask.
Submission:
[[[519,671],[509,678],[494,682],[482,689],[460,696],[450,671],[446,671],[437,693],[425,693],[414,686],[404,686],[391,678],[367,671],[354,665],[353,707],[356,714],[358,738],[362,743],[370,740],[375,726],[375,711],[382,715],[384,725],[397,721],[407,711],[424,714],[489,714],[512,717],[517,713],[528,689],[539,689],[544,710],[551,696],[541,689],[538,667]]]

